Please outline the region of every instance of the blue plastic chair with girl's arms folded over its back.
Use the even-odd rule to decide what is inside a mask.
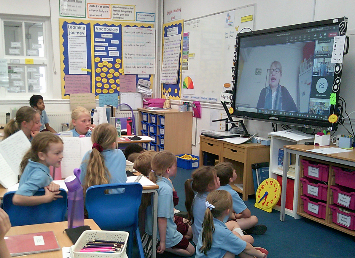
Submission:
[[[62,195],[63,198],[34,206],[13,205],[12,197],[16,191],[7,192],[2,199],[2,208],[9,215],[12,226],[65,221],[68,198],[64,189],[60,188],[59,190],[59,195]],[[34,195],[44,195],[44,189],[38,190]]]

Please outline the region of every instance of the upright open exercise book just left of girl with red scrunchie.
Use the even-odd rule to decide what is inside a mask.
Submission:
[[[62,178],[72,176],[75,168],[79,168],[87,151],[92,149],[91,137],[62,137],[64,143],[61,161]]]

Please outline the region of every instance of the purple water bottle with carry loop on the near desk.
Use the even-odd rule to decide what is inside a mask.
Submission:
[[[74,175],[64,179],[68,188],[68,228],[84,226],[84,195],[80,182],[80,169],[75,168]]]

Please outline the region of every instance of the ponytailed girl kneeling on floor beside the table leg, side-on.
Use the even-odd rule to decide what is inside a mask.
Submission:
[[[174,177],[177,171],[176,156],[169,151],[161,151],[154,155],[152,171],[149,179],[159,185],[158,192],[158,232],[160,241],[157,253],[164,251],[180,256],[192,256],[195,248],[189,242],[192,237],[191,226],[177,226],[174,222],[173,184],[169,177]],[[146,233],[153,235],[152,209],[147,208]],[[153,247],[154,248],[154,247]]]

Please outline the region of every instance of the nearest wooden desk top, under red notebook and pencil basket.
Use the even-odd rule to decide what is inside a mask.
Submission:
[[[93,221],[92,219],[85,220],[84,224],[90,226],[92,230],[101,230],[99,226],[95,223],[95,221]],[[11,227],[9,232],[7,232],[6,236],[54,231],[54,235],[58,240],[59,247],[60,248],[70,247],[72,246],[73,243],[70,241],[69,237],[64,232],[64,230],[67,229],[67,227],[68,227],[67,221],[35,224],[35,225],[27,225],[27,226],[17,226],[17,227]],[[62,250],[60,249],[59,251],[53,251],[53,252],[29,254],[26,257],[62,258],[63,256],[62,256]]]

